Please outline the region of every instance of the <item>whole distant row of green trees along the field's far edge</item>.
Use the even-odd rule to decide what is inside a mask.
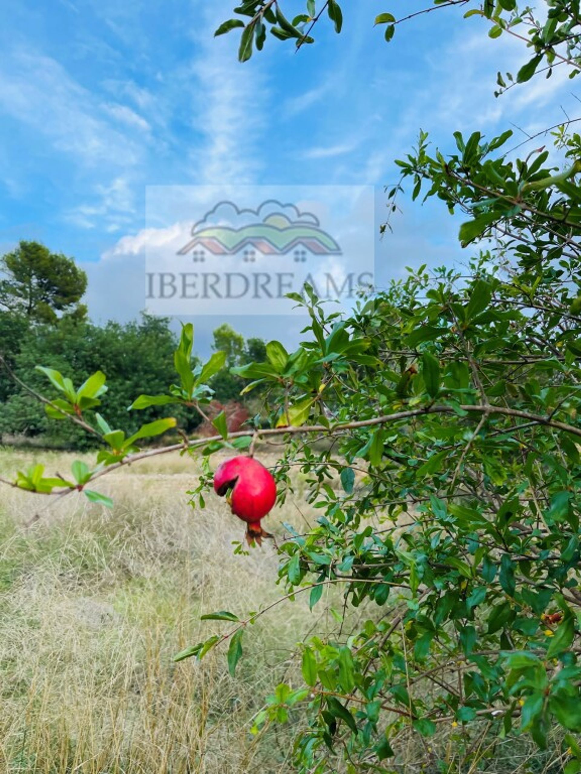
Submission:
[[[163,416],[163,406],[139,413],[127,408],[140,392],[163,392],[175,378],[173,359],[177,335],[170,318],[143,313],[139,320],[103,326],[91,323],[82,298],[87,276],[74,259],[36,241],[20,241],[0,259],[0,437],[4,442],[32,442],[40,446],[85,449],[94,441],[73,423],[51,422],[34,395],[46,392],[46,377],[36,370],[45,365],[65,377],[84,380],[101,369],[108,394],[101,406],[108,420],[135,432],[143,422]],[[227,354],[225,367],[211,380],[218,402],[245,400],[246,380],[229,372],[264,358],[260,338],[245,341],[228,324],[216,328],[213,348]],[[198,358],[193,358],[195,366]],[[248,399],[246,399],[248,402]],[[192,433],[202,417],[196,409],[180,407],[176,419]]]

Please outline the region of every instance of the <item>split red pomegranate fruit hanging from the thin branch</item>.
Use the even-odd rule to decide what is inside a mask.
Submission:
[[[260,546],[263,537],[272,537],[260,526],[260,519],[272,509],[277,499],[277,485],[270,471],[253,457],[232,457],[218,465],[214,474],[214,490],[228,495],[232,513],[246,522],[246,540]]]

